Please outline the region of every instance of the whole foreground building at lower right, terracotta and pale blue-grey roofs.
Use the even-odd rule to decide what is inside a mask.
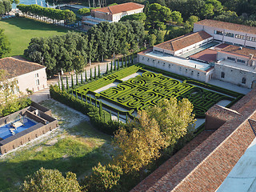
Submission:
[[[131,192],[211,192],[218,189],[254,191],[255,162],[252,160],[255,159],[255,154],[252,154],[254,158],[246,161],[251,163],[249,166],[246,162],[242,163],[243,167],[248,166],[246,170],[238,169],[231,173],[230,171],[255,140],[255,95],[256,89],[251,90],[230,109],[218,105],[211,107],[206,112],[206,130],[159,166]],[[254,169],[250,170],[252,166]],[[238,172],[239,170],[241,172]],[[226,178],[229,174],[230,177]],[[221,186],[225,179],[226,182]],[[249,188],[250,190],[245,190]]]

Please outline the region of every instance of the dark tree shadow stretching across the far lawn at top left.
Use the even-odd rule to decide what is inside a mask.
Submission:
[[[1,22],[6,22],[10,25],[17,26],[22,30],[56,30],[58,32],[67,32],[69,31],[64,26],[54,26],[53,24],[46,22],[39,22],[30,18],[9,18],[1,20]]]

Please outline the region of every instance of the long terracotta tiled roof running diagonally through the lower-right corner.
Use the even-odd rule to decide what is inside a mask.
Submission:
[[[162,172],[155,170],[131,191],[217,190],[255,138],[249,123],[249,119],[256,119],[255,95],[256,89],[251,90],[229,110],[237,116],[236,110],[241,116],[230,118],[170,170],[164,170],[160,166],[158,169],[162,169]],[[219,110],[219,107],[215,109]]]

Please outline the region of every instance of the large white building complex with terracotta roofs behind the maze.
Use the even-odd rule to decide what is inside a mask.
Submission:
[[[202,82],[256,86],[256,27],[202,20],[194,32],[138,54],[138,62]]]

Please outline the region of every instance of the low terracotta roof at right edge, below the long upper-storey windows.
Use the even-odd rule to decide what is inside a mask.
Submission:
[[[246,56],[246,57],[249,57],[249,54],[254,54],[254,58],[256,58],[256,50],[246,48],[246,47],[229,45],[219,51],[220,52],[228,52],[230,54],[240,54],[240,55]]]

